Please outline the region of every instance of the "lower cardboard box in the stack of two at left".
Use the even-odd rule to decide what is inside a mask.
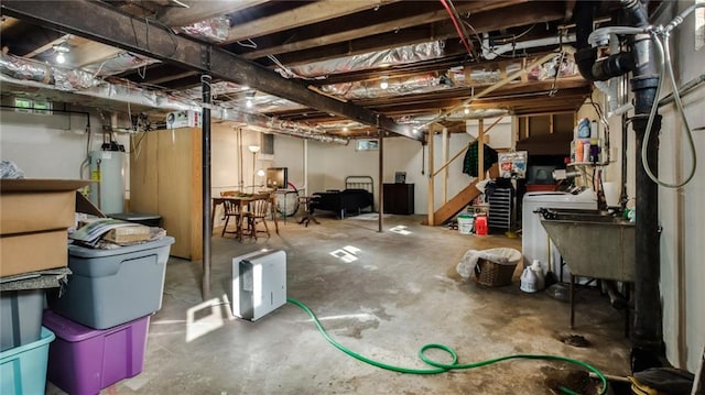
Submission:
[[[66,229],[0,238],[0,277],[68,264]]]

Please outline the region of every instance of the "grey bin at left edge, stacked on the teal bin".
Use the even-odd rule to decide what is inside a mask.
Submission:
[[[0,293],[0,351],[40,340],[44,289]]]

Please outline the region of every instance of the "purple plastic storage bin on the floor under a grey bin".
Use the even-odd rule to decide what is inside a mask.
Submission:
[[[48,380],[69,394],[98,394],[142,372],[150,316],[99,330],[45,310],[42,323],[56,334]]]

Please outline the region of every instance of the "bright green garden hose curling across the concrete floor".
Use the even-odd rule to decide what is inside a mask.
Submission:
[[[365,363],[368,363],[372,366],[377,366],[377,367],[381,367],[381,369],[386,369],[388,371],[393,371],[393,372],[400,372],[400,373],[410,373],[410,374],[438,374],[438,373],[445,373],[448,371],[454,371],[454,370],[464,370],[464,369],[475,369],[475,367],[481,367],[481,366],[486,366],[486,365],[490,365],[492,363],[497,363],[497,362],[501,362],[501,361],[506,361],[506,360],[514,360],[514,359],[524,359],[524,360],[550,360],[550,361],[563,361],[563,362],[567,362],[567,363],[572,363],[572,364],[576,364],[579,366],[583,366],[589,371],[592,371],[593,373],[595,373],[599,380],[603,382],[603,387],[599,391],[599,395],[603,395],[607,392],[607,378],[605,378],[605,375],[598,371],[595,366],[583,362],[583,361],[578,361],[578,360],[574,360],[572,358],[566,358],[566,356],[558,356],[558,355],[539,355],[539,354],[513,354],[513,355],[507,355],[507,356],[499,356],[499,358],[495,358],[495,359],[490,359],[490,360],[486,360],[486,361],[480,361],[480,362],[475,362],[475,363],[458,363],[458,354],[455,352],[455,350],[453,350],[452,348],[445,345],[445,344],[440,344],[440,343],[430,343],[430,344],[424,344],[420,350],[419,350],[419,358],[425,362],[426,364],[433,366],[432,369],[413,369],[413,367],[403,367],[403,366],[395,366],[395,365],[390,365],[383,362],[379,362],[379,361],[375,361],[372,359],[369,359],[365,355],[360,355],[357,352],[344,347],[343,344],[338,343],[337,341],[335,341],[329,334],[328,332],[326,332],[325,328],[323,328],[323,325],[321,323],[321,321],[318,320],[318,317],[316,317],[316,315],[308,308],[308,306],[304,305],[303,303],[293,299],[293,298],[286,298],[286,300],[291,304],[294,304],[299,307],[301,307],[301,309],[303,309],[312,319],[313,322],[315,323],[316,328],[318,328],[318,331],[321,332],[321,334],[323,334],[323,337],[330,343],[333,344],[336,349],[345,352],[346,354],[362,361]],[[453,358],[453,362],[451,363],[440,363],[436,361],[431,360],[430,358],[426,356],[425,351],[426,350],[431,350],[431,349],[437,349],[437,350],[443,350],[445,352],[447,352],[452,358]],[[565,394],[570,394],[570,395],[577,395],[576,392],[573,392],[568,388],[565,387],[561,387],[560,388],[563,393]]]

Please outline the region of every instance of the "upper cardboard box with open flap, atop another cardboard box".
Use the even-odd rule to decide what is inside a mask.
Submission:
[[[68,229],[74,226],[76,189],[89,180],[0,179],[0,234]]]

